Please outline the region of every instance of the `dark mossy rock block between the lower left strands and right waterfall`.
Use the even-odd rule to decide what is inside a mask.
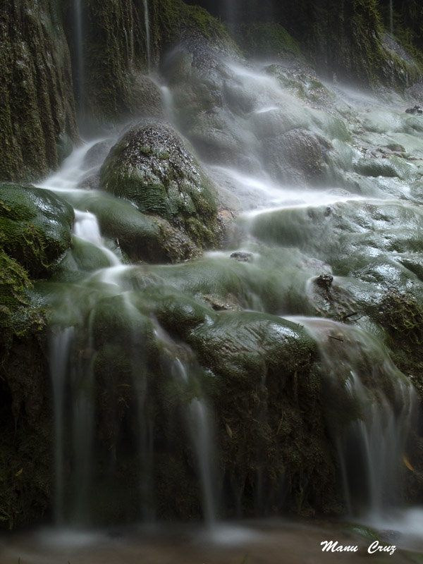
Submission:
[[[333,510],[336,477],[321,377],[302,326],[266,314],[219,312],[187,342],[214,375],[207,392],[217,414],[229,510],[240,494],[245,513],[253,511],[247,492],[259,479],[259,510]]]

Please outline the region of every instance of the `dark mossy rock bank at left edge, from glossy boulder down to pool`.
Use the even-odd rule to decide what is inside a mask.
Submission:
[[[47,319],[32,283],[71,243],[73,209],[49,190],[0,184],[1,520],[39,520],[51,505]]]

